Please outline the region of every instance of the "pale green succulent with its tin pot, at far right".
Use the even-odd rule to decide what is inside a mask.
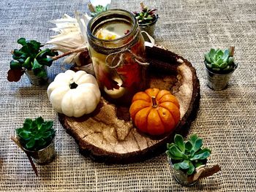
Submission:
[[[234,47],[225,50],[211,48],[204,55],[209,88],[223,90],[227,87],[231,74],[238,67],[238,64],[234,63],[233,53]]]

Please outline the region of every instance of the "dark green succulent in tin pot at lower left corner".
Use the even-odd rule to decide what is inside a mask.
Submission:
[[[42,117],[35,120],[27,118],[23,127],[16,129],[18,142],[37,164],[48,164],[55,158],[55,133],[53,121],[44,121]]]

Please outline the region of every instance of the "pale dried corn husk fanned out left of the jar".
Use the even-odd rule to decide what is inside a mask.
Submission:
[[[91,18],[87,14],[81,14],[80,16],[78,12],[75,13],[75,16],[75,18],[72,18],[65,14],[63,18],[50,20],[51,23],[56,25],[56,28],[51,28],[51,30],[59,33],[50,37],[50,41],[46,42],[46,44],[54,45],[53,50],[67,53],[87,47],[86,26]],[[80,53],[72,53],[65,58],[64,62],[67,64],[75,63],[80,66],[79,55]]]

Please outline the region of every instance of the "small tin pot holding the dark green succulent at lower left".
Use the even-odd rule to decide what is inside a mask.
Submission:
[[[24,147],[23,149],[26,150]],[[26,153],[28,153],[28,155],[32,157],[34,163],[39,165],[49,164],[56,157],[54,142],[51,142],[50,145],[43,148],[42,150],[38,150],[38,151],[26,150]]]

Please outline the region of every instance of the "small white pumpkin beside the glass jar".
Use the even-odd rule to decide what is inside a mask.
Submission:
[[[84,71],[57,74],[47,93],[57,112],[75,118],[93,112],[100,101],[97,80]]]

